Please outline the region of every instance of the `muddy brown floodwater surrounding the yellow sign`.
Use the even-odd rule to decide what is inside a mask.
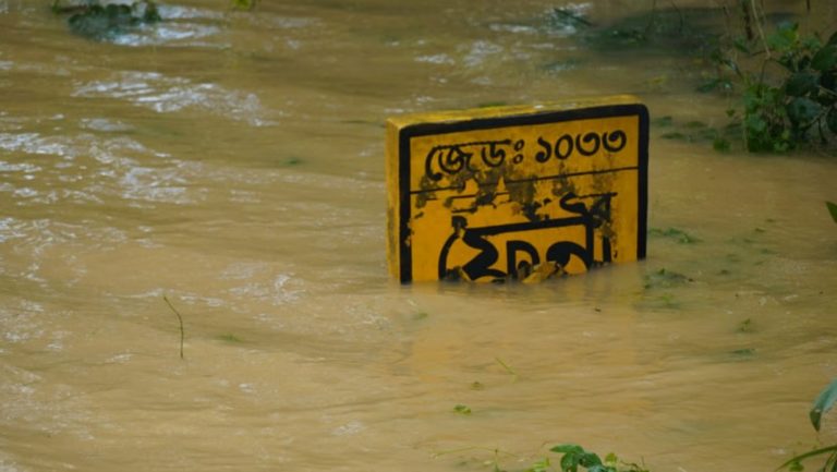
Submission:
[[[596,49],[541,0],[167,1],[99,43],[50,4],[0,0],[0,471],[513,471],[572,441],[755,472],[816,444],[833,158],[652,124],[646,261],[386,271],[387,117],[628,93],[721,126],[691,59]]]

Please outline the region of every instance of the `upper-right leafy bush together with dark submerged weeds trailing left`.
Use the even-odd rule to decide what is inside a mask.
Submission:
[[[740,24],[741,31],[721,31],[719,19]],[[653,7],[609,25],[596,25],[575,11],[556,9],[546,22],[551,29],[572,31],[581,41],[605,52],[686,51],[711,64],[714,72],[704,73],[706,78],[696,88],[733,96],[737,105],[727,111],[731,122],[721,129],[681,125],[663,134],[664,138],[709,142],[719,152],[742,142],[754,153],[816,145],[825,148],[837,141],[837,32],[823,40],[816,35],[803,36],[793,23],[780,23],[766,34],[766,14],[755,2],[738,0],[704,9],[680,9],[672,2],[670,9]],[[669,126],[672,122],[657,124]]]

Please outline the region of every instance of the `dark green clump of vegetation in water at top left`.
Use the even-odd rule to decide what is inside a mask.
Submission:
[[[102,4],[98,0],[85,0],[83,3],[69,5],[54,0],[52,12],[70,14],[70,31],[94,40],[111,40],[144,24],[162,21],[157,3],[153,0],[141,0],[131,4]]]

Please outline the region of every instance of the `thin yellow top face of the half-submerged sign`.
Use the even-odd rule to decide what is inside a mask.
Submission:
[[[387,119],[387,121],[390,125],[403,128],[416,123],[458,122],[515,114],[537,114],[580,108],[607,107],[614,105],[642,105],[642,102],[633,95],[614,95],[609,97],[581,98],[533,105],[505,105],[497,107],[472,108],[465,110],[405,113],[390,117]]]

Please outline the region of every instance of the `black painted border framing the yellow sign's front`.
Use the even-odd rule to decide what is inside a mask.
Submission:
[[[508,117],[476,118],[473,120],[420,123],[402,129],[398,136],[398,192],[399,192],[399,278],[402,283],[413,279],[413,253],[407,244],[410,238],[410,141],[413,137],[433,134],[460,133],[463,131],[490,130],[493,128],[526,126],[534,124],[559,123],[563,121],[590,120],[596,118],[630,117],[640,119],[638,142],[638,208],[636,216],[636,258],[645,258],[645,245],[648,217],[648,109],[642,104],[601,105],[574,110],[545,111],[532,114],[512,114]]]

